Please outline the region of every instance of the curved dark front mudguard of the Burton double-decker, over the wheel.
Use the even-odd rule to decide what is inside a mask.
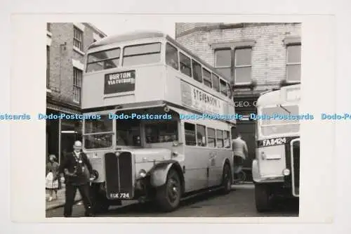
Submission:
[[[167,181],[168,171],[171,169],[171,167],[175,167],[178,172],[181,170],[180,165],[176,161],[161,162],[159,164],[154,165],[154,167],[152,167],[152,169],[150,170],[151,186],[163,186]]]

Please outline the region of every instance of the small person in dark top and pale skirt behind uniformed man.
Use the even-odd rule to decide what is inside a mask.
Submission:
[[[53,194],[55,193],[55,200],[58,199],[58,190],[61,188],[60,180],[58,179],[58,162],[55,162],[56,156],[49,155],[48,163],[46,164],[46,190],[48,190],[49,197],[48,202],[53,200]]]

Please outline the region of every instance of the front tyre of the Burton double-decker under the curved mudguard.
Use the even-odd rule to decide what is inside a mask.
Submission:
[[[180,176],[175,169],[170,169],[164,186],[157,189],[156,202],[162,212],[172,212],[179,207],[181,197]]]

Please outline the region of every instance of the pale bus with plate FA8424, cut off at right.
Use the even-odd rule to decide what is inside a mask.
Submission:
[[[258,212],[272,209],[277,196],[299,197],[299,103],[300,84],[265,93],[257,100],[260,119],[256,120],[252,175]],[[295,117],[284,118],[289,115]]]

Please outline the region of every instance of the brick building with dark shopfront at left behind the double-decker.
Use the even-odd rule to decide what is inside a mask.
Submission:
[[[80,114],[85,51],[106,34],[90,23],[79,22],[47,23],[46,32],[46,115]],[[46,121],[46,153],[58,160],[80,139],[79,120]]]

